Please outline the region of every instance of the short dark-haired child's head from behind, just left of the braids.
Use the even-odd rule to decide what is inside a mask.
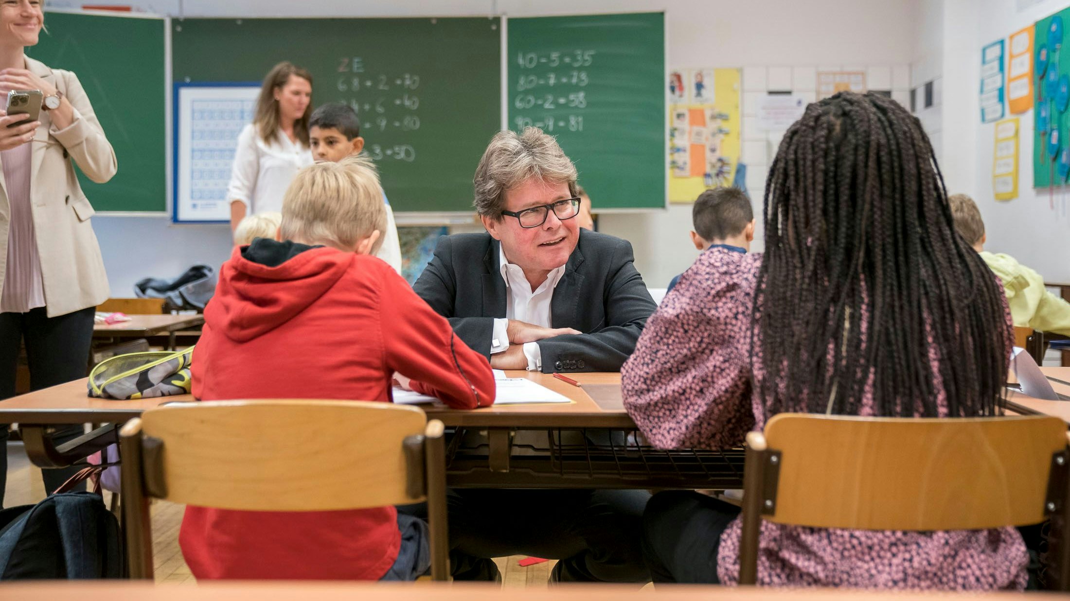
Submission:
[[[754,210],[738,188],[715,188],[699,195],[691,207],[691,242],[700,250],[729,242],[749,250],[754,240]]]

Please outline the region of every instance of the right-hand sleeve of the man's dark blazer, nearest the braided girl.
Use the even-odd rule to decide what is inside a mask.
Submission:
[[[631,244],[621,241],[606,278],[606,325],[587,334],[556,336],[538,341],[542,371],[621,371],[636,350],[647,318],[657,308],[636,269]],[[488,339],[489,343],[489,339]],[[557,367],[557,361],[562,361]],[[565,367],[574,365],[576,367]],[[580,367],[580,361],[583,366]]]

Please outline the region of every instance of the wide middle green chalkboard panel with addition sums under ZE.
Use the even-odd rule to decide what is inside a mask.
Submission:
[[[172,21],[177,82],[259,81],[279,61],[312,103],[357,110],[394,211],[472,211],[472,175],[501,128],[498,18]]]

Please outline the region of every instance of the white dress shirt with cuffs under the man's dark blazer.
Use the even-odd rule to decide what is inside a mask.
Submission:
[[[552,269],[546,281],[537,289],[532,290],[531,283],[524,277],[524,271],[519,265],[509,263],[501,247],[498,251],[498,262],[501,265],[505,288],[508,289],[509,293],[505,297],[505,319],[494,320],[494,333],[490,340],[490,354],[492,355],[502,353],[509,348],[507,330],[509,320],[553,327],[550,324],[550,302],[553,299],[553,290],[557,288],[561,276],[565,275],[564,265]],[[539,351],[538,342],[525,342],[524,356],[528,357],[529,371],[542,369],[542,353]]]

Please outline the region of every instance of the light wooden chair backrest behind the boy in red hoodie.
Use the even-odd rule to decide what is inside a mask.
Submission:
[[[143,435],[164,449],[156,465],[144,458],[148,491],[158,482],[159,498],[248,511],[416,503],[423,496],[408,494],[404,440],[426,425],[419,409],[383,402],[164,405],[141,416]]]

